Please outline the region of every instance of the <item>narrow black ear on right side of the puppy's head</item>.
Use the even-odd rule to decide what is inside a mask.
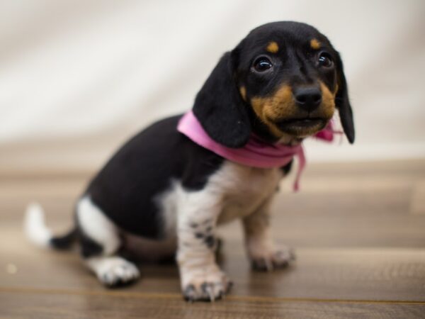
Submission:
[[[355,137],[353,110],[351,110],[351,104],[348,99],[348,88],[344,75],[344,66],[342,65],[342,60],[339,54],[336,60],[336,67],[338,71],[338,92],[336,92],[335,104],[339,109],[339,117],[341,118],[344,133],[348,138],[348,141],[353,144]]]

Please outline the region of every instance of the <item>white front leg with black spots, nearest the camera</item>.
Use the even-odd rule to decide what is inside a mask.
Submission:
[[[178,251],[181,290],[188,301],[214,301],[231,282],[215,262],[215,225],[222,211],[215,198],[188,195],[179,209]]]

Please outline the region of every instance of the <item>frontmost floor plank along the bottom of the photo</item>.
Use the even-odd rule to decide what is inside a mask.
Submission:
[[[67,306],[64,306],[67,305]],[[0,291],[1,318],[423,318],[424,303],[226,298],[185,303],[180,296],[66,291]]]

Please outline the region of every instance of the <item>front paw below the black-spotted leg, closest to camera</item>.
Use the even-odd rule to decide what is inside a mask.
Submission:
[[[215,301],[229,292],[232,281],[220,270],[210,274],[186,274],[182,283],[186,301]]]

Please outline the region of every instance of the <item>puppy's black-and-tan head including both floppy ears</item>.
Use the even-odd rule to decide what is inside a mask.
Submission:
[[[339,53],[312,26],[276,22],[249,33],[218,62],[193,113],[210,137],[242,147],[251,133],[294,142],[322,130],[339,109],[348,140],[354,125]]]

